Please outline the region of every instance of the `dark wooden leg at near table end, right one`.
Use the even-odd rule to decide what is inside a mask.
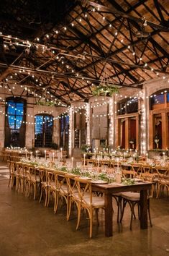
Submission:
[[[147,229],[147,190],[140,191],[140,229]]]

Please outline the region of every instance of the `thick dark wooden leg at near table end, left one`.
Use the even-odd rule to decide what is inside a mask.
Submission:
[[[105,194],[105,236],[113,235],[113,206],[112,206],[112,195]]]

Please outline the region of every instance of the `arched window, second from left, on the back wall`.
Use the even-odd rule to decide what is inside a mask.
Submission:
[[[53,117],[46,114],[35,116],[35,147],[52,147]]]

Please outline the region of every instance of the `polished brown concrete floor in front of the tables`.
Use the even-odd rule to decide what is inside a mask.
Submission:
[[[104,212],[100,226],[93,221],[93,238],[88,238],[88,220],[82,216],[76,231],[76,209],[66,221],[66,209],[58,213],[43,202],[25,197],[0,179],[0,256],[161,256],[169,255],[169,199],[151,200],[152,228],[140,230],[134,220],[129,230],[129,210],[121,225],[117,224],[114,202],[114,236],[104,236]]]

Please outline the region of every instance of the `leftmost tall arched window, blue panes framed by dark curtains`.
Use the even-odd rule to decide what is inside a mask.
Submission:
[[[25,146],[26,101],[22,98],[6,98],[5,147]]]

